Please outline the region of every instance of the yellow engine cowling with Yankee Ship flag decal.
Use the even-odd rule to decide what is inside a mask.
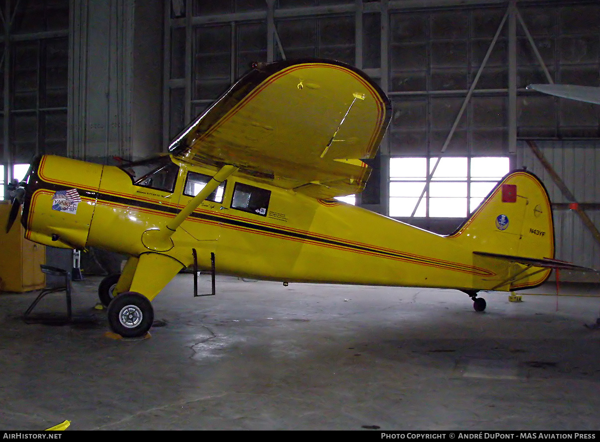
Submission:
[[[21,191],[25,237],[55,247],[85,247],[102,172],[101,164],[37,158]]]

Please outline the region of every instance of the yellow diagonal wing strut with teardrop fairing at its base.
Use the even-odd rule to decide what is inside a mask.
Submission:
[[[236,170],[238,170],[238,168],[231,166],[230,164],[221,167],[221,169],[219,169],[212,177],[211,181],[209,181],[205,187],[193,197],[177,215],[175,215],[175,218],[167,222],[164,227],[146,230],[142,234],[143,245],[150,250],[159,252],[165,252],[172,249],[173,241],[171,240],[171,236],[175,233],[175,230],[177,230],[179,225],[181,225],[181,223],[184,222],[187,217],[189,217],[191,213]]]

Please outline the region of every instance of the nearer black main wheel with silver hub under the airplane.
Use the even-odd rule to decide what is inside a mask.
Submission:
[[[107,310],[110,329],[124,338],[143,336],[152,327],[154,309],[137,291],[125,291],[110,301]]]

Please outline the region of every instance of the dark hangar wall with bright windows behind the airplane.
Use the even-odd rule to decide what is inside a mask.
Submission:
[[[34,155],[144,158],[164,151],[253,62],[331,58],[376,79],[394,109],[352,202],[448,234],[506,172],[527,167],[553,202],[556,257],[600,267],[598,106],[526,90],[598,85],[597,2],[160,4],[2,3],[4,199]],[[588,222],[569,209],[574,202]]]

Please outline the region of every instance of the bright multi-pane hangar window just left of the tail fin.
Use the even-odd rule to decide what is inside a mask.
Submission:
[[[389,216],[464,218],[509,172],[508,157],[390,158]],[[416,209],[415,209],[416,208]]]

